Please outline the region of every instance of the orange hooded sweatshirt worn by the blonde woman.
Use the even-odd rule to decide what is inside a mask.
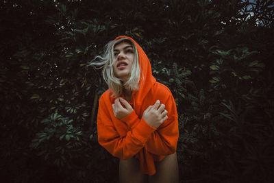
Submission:
[[[119,38],[129,37],[119,36],[116,39]],[[153,175],[156,172],[154,161],[160,161],[176,151],[179,136],[177,109],[169,88],[156,82],[153,77],[145,52],[132,38],[129,39],[138,49],[140,69],[144,76],[140,79],[139,90],[132,92],[129,102],[134,110],[123,119],[117,119],[112,110],[116,98],[112,97],[110,90],[105,91],[99,99],[98,141],[117,158],[138,158],[142,172]],[[168,119],[155,129],[142,119],[142,113],[158,99],[166,106]]]

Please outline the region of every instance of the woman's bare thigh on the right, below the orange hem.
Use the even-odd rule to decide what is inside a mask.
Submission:
[[[149,183],[179,183],[177,154],[166,156],[162,161],[155,162],[156,173],[149,176]]]

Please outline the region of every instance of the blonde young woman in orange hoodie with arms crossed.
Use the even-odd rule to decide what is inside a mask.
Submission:
[[[101,61],[109,89],[99,99],[98,141],[120,159],[120,182],[179,182],[177,109],[156,82],[142,48],[127,36],[106,45]]]

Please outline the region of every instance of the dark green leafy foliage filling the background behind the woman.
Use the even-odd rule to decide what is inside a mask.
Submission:
[[[107,89],[88,62],[132,36],[179,114],[180,182],[271,182],[273,0],[6,0],[1,182],[118,182],[97,143]]]

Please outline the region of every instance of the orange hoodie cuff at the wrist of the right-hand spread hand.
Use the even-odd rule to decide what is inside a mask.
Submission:
[[[140,119],[140,123],[138,123],[134,130],[132,130],[132,134],[142,143],[146,143],[150,134],[153,133],[155,130],[156,128],[147,124],[144,119]]]

